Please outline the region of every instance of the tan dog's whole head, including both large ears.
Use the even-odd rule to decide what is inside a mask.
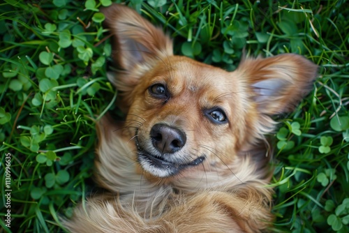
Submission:
[[[317,66],[296,54],[244,59],[227,72],[174,56],[170,38],[126,6],[103,13],[119,68],[109,79],[121,91],[135,156],[154,176],[233,163],[272,130],[269,116],[309,92],[316,75]]]

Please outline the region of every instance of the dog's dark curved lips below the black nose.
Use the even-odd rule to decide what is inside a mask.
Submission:
[[[140,160],[140,158],[144,158],[145,160],[147,160],[148,163],[151,163],[152,166],[154,166],[158,169],[169,170],[170,175],[177,174],[178,172],[180,172],[181,170],[184,170],[185,168],[195,167],[197,165],[200,165],[206,158],[206,156],[203,155],[203,156],[198,156],[198,158],[195,158],[195,160],[193,160],[189,163],[184,163],[184,164],[171,163],[171,162],[164,160],[161,157],[154,156],[153,154],[144,150],[140,146],[137,137],[135,140],[135,144],[137,146],[137,151],[138,151],[138,160]]]

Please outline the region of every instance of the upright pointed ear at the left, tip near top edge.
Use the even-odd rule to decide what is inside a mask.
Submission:
[[[157,56],[172,55],[172,42],[135,10],[120,4],[102,8],[105,25],[114,36],[114,61],[125,70]]]

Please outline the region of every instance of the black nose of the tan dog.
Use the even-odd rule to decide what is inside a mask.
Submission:
[[[161,153],[174,153],[186,144],[184,132],[163,123],[157,123],[150,130],[151,142]]]

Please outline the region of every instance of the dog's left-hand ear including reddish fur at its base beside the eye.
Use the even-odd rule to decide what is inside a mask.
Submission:
[[[156,61],[172,55],[172,41],[127,6],[112,4],[101,12],[105,15],[105,26],[114,37],[112,56],[121,70],[117,77],[108,78],[119,91],[132,91]]]

